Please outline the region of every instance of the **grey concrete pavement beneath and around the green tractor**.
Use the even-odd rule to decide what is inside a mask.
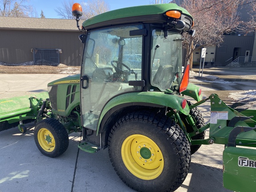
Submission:
[[[48,82],[63,76],[68,75],[1,74],[0,98],[46,91]],[[208,123],[209,103],[200,110]],[[36,147],[34,125],[28,127],[24,135],[18,128],[0,132],[0,192],[133,192],[116,175],[107,149],[83,152],[77,148],[80,133],[72,133],[68,150],[50,158]],[[176,192],[230,192],[222,186],[223,150],[218,144],[202,146],[192,155],[188,176]]]

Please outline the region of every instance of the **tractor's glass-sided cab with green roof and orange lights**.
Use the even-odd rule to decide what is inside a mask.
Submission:
[[[79,17],[74,9],[73,15]],[[188,72],[182,84],[182,35],[192,33],[191,27],[192,16],[176,4],[124,8],[84,21],[83,126],[96,130],[104,106],[124,93],[185,90]]]

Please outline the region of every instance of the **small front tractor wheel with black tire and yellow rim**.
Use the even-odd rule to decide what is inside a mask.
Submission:
[[[44,119],[36,124],[34,139],[45,156],[57,157],[68,149],[68,132],[56,119]]]

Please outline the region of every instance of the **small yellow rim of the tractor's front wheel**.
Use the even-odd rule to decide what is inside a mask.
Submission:
[[[52,133],[48,129],[41,128],[37,133],[37,140],[44,151],[52,152],[54,150],[55,140]]]

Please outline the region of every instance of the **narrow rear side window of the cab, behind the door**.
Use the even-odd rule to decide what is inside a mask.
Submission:
[[[182,77],[182,39],[176,32],[152,31],[151,84],[161,91],[177,90]]]

